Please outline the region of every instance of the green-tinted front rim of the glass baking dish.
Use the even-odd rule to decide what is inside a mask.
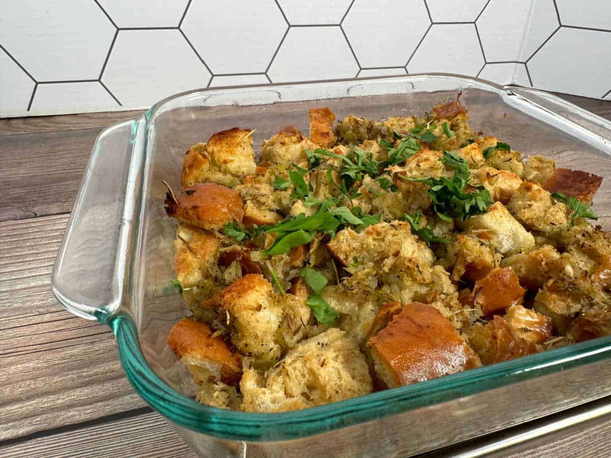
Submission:
[[[105,316],[100,321],[106,321]],[[290,440],[438,404],[510,383],[576,368],[609,357],[611,336],[472,369],[440,379],[311,409],[285,413],[246,413],[200,404],[170,388],[145,361],[136,326],[128,314],[106,321],[114,331],[128,380],[161,415],[193,431],[229,440]]]

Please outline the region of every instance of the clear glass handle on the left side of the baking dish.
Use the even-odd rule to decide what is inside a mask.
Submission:
[[[125,297],[136,206],[141,196],[147,118],[104,130],[93,151],[51,274],[68,311],[106,322]]]

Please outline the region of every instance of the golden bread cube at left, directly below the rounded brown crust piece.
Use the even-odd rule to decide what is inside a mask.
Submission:
[[[185,288],[200,286],[206,289],[216,283],[221,256],[221,239],[216,234],[181,224],[176,230],[174,250],[176,277]]]

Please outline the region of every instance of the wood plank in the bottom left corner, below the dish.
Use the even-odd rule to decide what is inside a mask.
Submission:
[[[5,458],[196,456],[166,420],[155,412],[0,445],[0,454]]]

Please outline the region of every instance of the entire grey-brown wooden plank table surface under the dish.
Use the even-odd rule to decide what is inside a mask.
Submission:
[[[611,119],[609,101],[563,97]],[[194,456],[123,376],[109,328],[65,311],[49,285],[95,138],[140,113],[0,119],[2,457]],[[529,455],[608,456],[610,432],[601,416]]]

